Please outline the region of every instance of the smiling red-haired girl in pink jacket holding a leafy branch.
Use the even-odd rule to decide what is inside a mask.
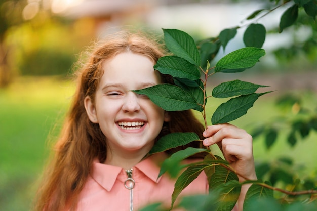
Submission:
[[[138,210],[153,202],[170,204],[175,181],[157,176],[159,163],[171,151],[142,158],[156,140],[174,132],[197,133],[204,141],[190,144],[195,147],[218,144],[239,175],[256,179],[252,137],[244,130],[231,124],[205,130],[190,110],[167,112],[131,91],[173,83],[153,69],[164,55],[161,45],[140,33],[116,33],[96,47],[78,72],[36,210]],[[235,208],[242,210],[247,189],[243,186]],[[182,195],[199,193],[208,193],[204,173]]]

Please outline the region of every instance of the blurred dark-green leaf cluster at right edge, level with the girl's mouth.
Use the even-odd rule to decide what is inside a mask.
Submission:
[[[265,136],[266,148],[269,149],[278,140],[278,135],[288,134],[287,143],[294,147],[299,140],[304,140],[310,133],[317,132],[317,107],[303,103],[303,96],[286,93],[279,96],[275,106],[280,113],[273,119],[266,119],[255,124],[253,138]],[[314,103],[315,100],[311,99]]]

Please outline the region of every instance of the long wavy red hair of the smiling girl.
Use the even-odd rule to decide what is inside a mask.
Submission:
[[[126,51],[147,56],[154,63],[166,55],[159,39],[140,32],[115,33],[96,45],[87,63],[77,71],[77,88],[55,145],[54,157],[43,175],[35,210],[73,210],[90,174],[93,160],[98,158],[100,162],[105,161],[107,156],[105,136],[99,125],[89,120],[84,99],[90,96],[94,101],[99,79],[103,75],[103,62]],[[171,76],[162,74],[161,77],[163,83],[173,83]],[[204,126],[190,110],[169,112],[169,114],[171,121],[164,123],[157,139],[173,132],[195,132],[201,136],[204,131]],[[194,143],[195,147],[202,147],[200,142],[196,143]]]

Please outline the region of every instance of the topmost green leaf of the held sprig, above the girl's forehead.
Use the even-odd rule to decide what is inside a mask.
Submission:
[[[194,65],[201,64],[201,56],[194,39],[189,34],[177,29],[163,29],[163,31],[165,45],[173,54]]]

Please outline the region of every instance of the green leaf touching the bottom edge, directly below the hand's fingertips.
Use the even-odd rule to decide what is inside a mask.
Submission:
[[[240,191],[241,184],[236,180],[231,180],[214,189],[212,193],[219,196],[217,211],[231,211],[239,198]]]

